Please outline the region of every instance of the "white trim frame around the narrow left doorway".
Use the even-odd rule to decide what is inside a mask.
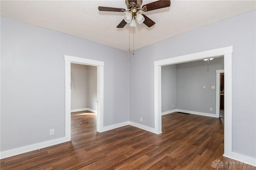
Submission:
[[[103,130],[104,62],[64,55],[65,60],[65,137],[71,140],[71,63],[97,66],[97,131]]]

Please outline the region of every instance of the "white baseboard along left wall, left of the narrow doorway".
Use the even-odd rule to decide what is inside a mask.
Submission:
[[[46,148],[48,146],[52,146],[55,144],[60,144],[63,142],[68,142],[68,141],[70,141],[68,138],[62,137],[62,138],[57,138],[57,139],[53,139],[53,140],[47,140],[47,141],[36,143],[36,144],[22,146],[19,148],[4,150],[4,151],[0,152],[0,159],[8,158],[10,156],[14,156],[14,155],[18,155],[18,154],[23,154],[23,153],[30,152],[33,150],[39,150],[40,148]]]

